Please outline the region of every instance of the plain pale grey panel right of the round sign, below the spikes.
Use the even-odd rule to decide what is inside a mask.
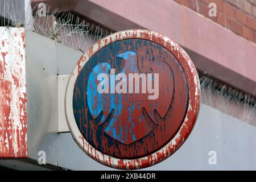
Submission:
[[[166,169],[256,169],[256,127],[201,105],[191,136],[181,148],[159,164]],[[209,151],[217,152],[217,165],[208,163]]]

